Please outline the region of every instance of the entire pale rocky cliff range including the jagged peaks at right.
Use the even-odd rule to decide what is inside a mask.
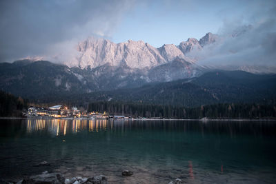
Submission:
[[[204,45],[208,44],[208,38]],[[210,43],[214,40],[211,39]],[[165,44],[160,48],[154,48],[144,41],[126,41],[123,43],[113,43],[106,39],[90,37],[77,45],[79,55],[74,61],[64,64],[70,67],[97,68],[108,63],[118,67],[126,65],[129,68],[150,69],[158,65],[170,63],[175,59],[184,59],[189,63],[194,63],[193,59],[186,57],[185,54],[191,50],[201,50],[197,39],[188,39],[179,45]]]

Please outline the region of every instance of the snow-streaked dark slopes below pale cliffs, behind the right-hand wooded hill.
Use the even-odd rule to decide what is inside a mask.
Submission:
[[[83,94],[119,88],[135,88],[150,82],[172,81],[195,76],[189,63],[176,59],[149,72],[126,65],[110,64],[97,68],[69,68],[50,61],[0,63],[0,90],[26,99]],[[199,73],[198,73],[199,74]]]

